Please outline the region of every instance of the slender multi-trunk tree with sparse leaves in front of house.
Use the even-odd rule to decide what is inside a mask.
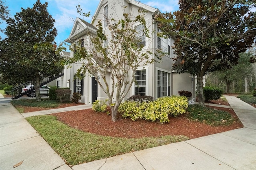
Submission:
[[[138,34],[150,37],[144,12],[139,10],[138,16],[132,16],[125,12],[125,8],[123,7],[122,18],[118,20],[112,19],[111,16],[104,17],[108,22],[108,31],[103,30],[102,21],[98,20],[96,35],[88,33],[90,41],[84,45],[86,48],[78,45],[74,57],[71,58],[71,63],[82,63],[82,67],[77,71],[78,75],[89,73],[94,76],[108,96],[113,122],[117,120],[120,103],[132,87],[137,67],[155,61],[152,52],[143,48],[142,40],[138,38]],[[78,11],[80,10],[78,8]],[[134,25],[138,23],[142,24],[142,27],[136,30]]]

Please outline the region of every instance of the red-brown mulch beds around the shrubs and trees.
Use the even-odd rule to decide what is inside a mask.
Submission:
[[[228,105],[227,102],[218,100],[210,101],[210,103]],[[58,108],[82,105],[84,103],[68,103],[63,104]],[[210,107],[210,106],[208,106]],[[212,107],[224,111],[228,111],[236,119],[233,125],[211,127],[204,123],[190,121],[186,117],[186,113],[177,117],[169,117],[170,123],[161,124],[159,121],[149,122],[144,120],[132,121],[123,119],[120,115],[115,123],[111,121],[111,115],[106,113],[97,113],[92,109],[80,111],[68,111],[55,113],[58,120],[68,124],[70,127],[80,130],[100,134],[104,136],[125,137],[125,138],[141,138],[146,136],[164,136],[164,135],[185,135],[189,138],[198,138],[210,134],[225,132],[228,130],[242,128],[243,125],[232,109],[222,107]],[[24,107],[24,112],[39,111],[45,108]],[[48,108],[49,109],[49,108]],[[52,108],[56,109],[56,108]],[[111,113],[110,109],[108,111]]]

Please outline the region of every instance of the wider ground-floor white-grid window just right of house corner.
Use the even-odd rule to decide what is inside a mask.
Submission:
[[[157,97],[170,96],[170,73],[157,71]]]

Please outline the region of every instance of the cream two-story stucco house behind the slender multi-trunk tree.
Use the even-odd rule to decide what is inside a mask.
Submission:
[[[131,11],[134,16],[138,14],[138,8],[144,8],[147,11],[145,19],[147,25],[150,25],[149,31],[153,32],[158,30],[157,24],[155,24],[152,19],[155,14],[160,13],[157,8],[152,8],[135,0],[101,0],[94,14],[94,22],[90,24],[80,18],[76,18],[70,36],[65,42],[68,42],[71,45],[81,43],[82,47],[86,46],[86,42],[89,40],[88,34],[96,33],[96,24],[98,20],[103,21],[102,24],[104,24],[103,27],[107,34],[108,26],[107,22],[104,22],[104,16],[112,14],[111,18],[118,19],[123,13],[121,6],[127,6],[126,11]],[[141,29],[141,26],[142,25],[138,23],[138,25],[134,25],[134,28],[139,30]],[[174,43],[174,39],[171,37],[167,39],[160,38],[157,36],[156,31],[150,39],[143,34],[140,35],[140,38],[142,40],[141,43],[145,48],[150,47],[150,49],[152,49],[152,58],[154,58],[154,53],[156,53],[156,49],[158,48],[161,48],[166,52],[166,55],[162,57],[160,63],[152,63],[143,67],[138,67],[135,74],[138,85],[133,83],[133,86],[125,99],[131,95],[150,95],[156,99],[163,96],[178,95],[178,91],[181,90],[191,91],[194,94],[195,85],[194,79],[192,79],[193,77],[188,74],[176,74],[172,72],[172,64],[174,63],[172,58],[174,57],[174,54],[171,46]],[[70,57],[73,57],[73,53],[74,51],[71,51]],[[65,56],[68,57],[68,55]],[[86,74],[84,79],[74,79],[76,71],[80,66],[80,63],[74,63],[70,69],[65,68],[66,71],[64,71],[64,77],[57,79],[57,84],[60,85],[60,87],[70,87],[72,93],[81,93],[82,103],[89,104],[96,99],[106,99],[107,96],[104,91],[102,91],[97,81],[95,81],[95,77]],[[69,82],[69,86],[68,84],[65,84],[67,82]]]

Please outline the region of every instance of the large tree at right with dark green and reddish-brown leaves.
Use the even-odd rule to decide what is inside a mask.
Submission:
[[[203,76],[228,69],[256,37],[256,16],[249,0],[180,0],[180,10],[156,18],[162,32],[176,36],[174,69],[197,76],[204,105]]]

